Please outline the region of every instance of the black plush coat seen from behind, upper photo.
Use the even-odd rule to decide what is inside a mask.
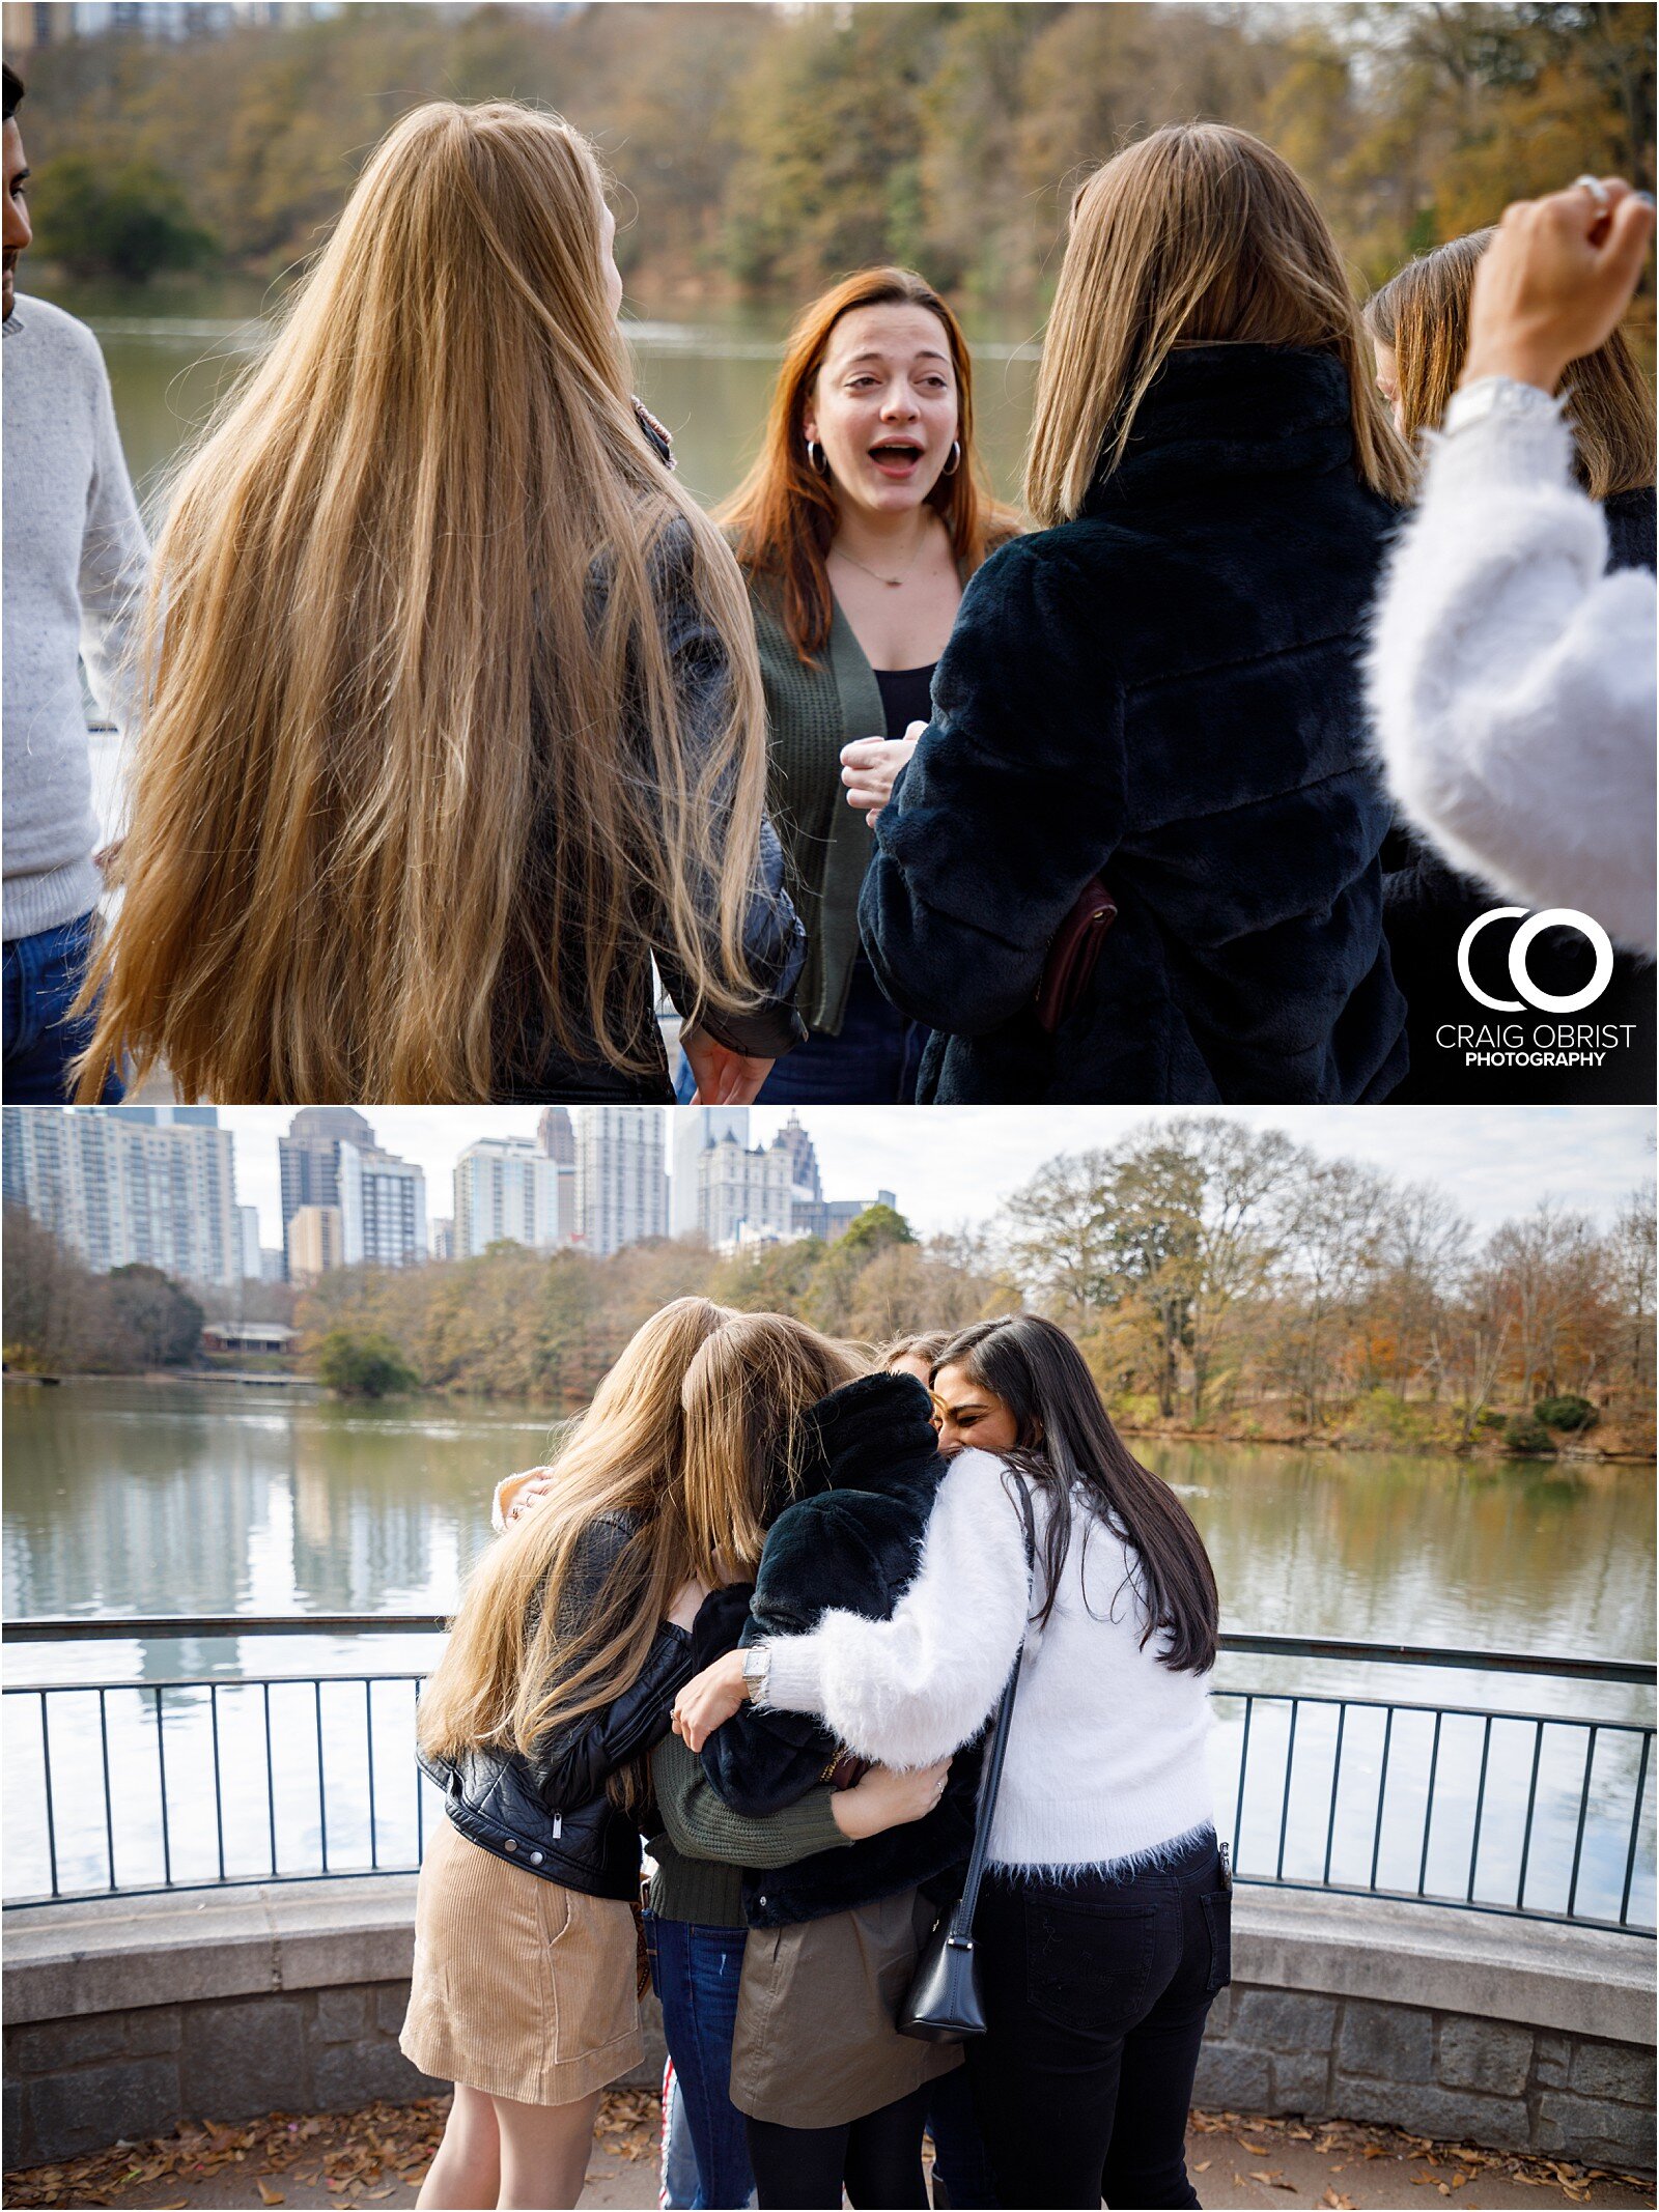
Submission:
[[[1340,361],[1199,345],[1084,513],[980,568],[858,909],[936,1031],[922,1099],[1387,1097],[1405,1006],[1358,655],[1391,522]],[[1095,874],[1119,918],[1051,1037],[1033,998]]]

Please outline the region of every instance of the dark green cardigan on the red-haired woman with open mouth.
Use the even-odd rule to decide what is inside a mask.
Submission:
[[[765,686],[765,803],[783,841],[790,898],[807,931],[794,1004],[810,1031],[838,1037],[872,847],[869,823],[847,805],[841,748],[854,737],[885,737],[887,712],[841,606],[830,622],[830,650],[816,664],[794,650],[772,580],[750,577],[750,606]]]

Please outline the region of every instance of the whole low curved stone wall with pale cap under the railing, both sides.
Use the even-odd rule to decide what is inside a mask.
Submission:
[[[414,1878],[22,1907],[7,1920],[7,2163],[181,2119],[434,2095],[398,2051]],[[1655,1944],[1500,1916],[1234,1893],[1197,2101],[1652,2172]],[[655,2081],[661,2028],[650,2020]]]

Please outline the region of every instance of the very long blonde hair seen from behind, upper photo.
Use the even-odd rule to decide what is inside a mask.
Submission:
[[[728,688],[688,728],[661,602]],[[431,102],[369,157],[155,555],[80,1097],[484,1099],[529,1031],[653,1066],[655,940],[752,1006],[765,721],[719,531],[635,416],[588,142]],[[712,909],[712,911],[710,911]],[[622,1002],[622,1004],[619,1004]]]

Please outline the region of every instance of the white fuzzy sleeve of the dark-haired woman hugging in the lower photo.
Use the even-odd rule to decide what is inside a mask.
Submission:
[[[916,1582],[891,1617],[825,1613],[812,1635],[768,1637],[765,1703],[821,1714],[860,1759],[931,1765],[995,1705],[1029,1604],[1020,1506],[1002,1460],[964,1451],[940,1482]]]

